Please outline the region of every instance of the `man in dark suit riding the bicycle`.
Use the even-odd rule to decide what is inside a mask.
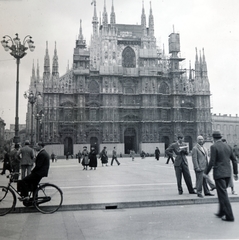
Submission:
[[[28,192],[35,190],[38,183],[43,177],[48,176],[50,166],[50,156],[44,149],[44,143],[39,142],[36,146],[38,154],[36,156],[35,167],[32,169],[30,175],[26,176],[17,183],[17,190],[21,193],[20,201],[28,199]]]

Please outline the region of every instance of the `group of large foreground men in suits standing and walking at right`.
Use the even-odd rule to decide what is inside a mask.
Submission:
[[[183,194],[182,176],[184,177],[188,192],[190,194],[197,194],[200,198],[203,198],[202,189],[205,196],[214,196],[210,190],[213,191],[216,189],[219,200],[219,211],[215,215],[224,221],[234,221],[227,188],[230,186],[230,182],[233,181],[233,177],[235,180],[238,180],[237,158],[239,157],[239,152],[233,151],[226,141],[222,141],[220,131],[214,131],[212,137],[214,143],[210,147],[210,160],[208,160],[208,152],[203,146],[203,136],[197,137],[197,144],[192,149],[192,161],[196,175],[196,191],[193,188],[186,157],[188,155],[187,145],[183,142],[182,135],[179,135],[178,141],[172,143],[166,149],[166,154],[170,157],[173,157],[173,154],[176,155],[174,169],[178,193],[180,195]],[[215,184],[208,175],[211,169],[213,169]],[[208,185],[211,187],[210,190]],[[236,194],[233,188],[232,193]]]

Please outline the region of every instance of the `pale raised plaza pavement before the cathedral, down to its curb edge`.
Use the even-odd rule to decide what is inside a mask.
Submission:
[[[188,194],[183,182],[183,195],[178,195],[173,164],[165,164],[166,158],[154,157],[144,159],[136,157],[119,158],[120,165],[102,167],[98,160],[96,170],[83,170],[77,159],[60,159],[51,163],[49,176],[42,182],[50,182],[59,186],[64,194],[61,210],[104,209],[106,207],[132,208],[149,206],[169,206],[180,204],[217,203],[214,197],[198,198]],[[195,185],[195,173],[191,157],[188,157],[191,177]],[[0,176],[0,184],[7,183],[5,176]],[[238,181],[235,190],[239,192]],[[231,194],[232,201],[239,201],[239,196]],[[17,203],[21,211],[28,211]],[[16,209],[18,211],[19,209]]]

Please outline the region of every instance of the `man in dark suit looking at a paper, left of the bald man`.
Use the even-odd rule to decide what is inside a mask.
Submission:
[[[188,161],[186,155],[188,155],[187,145],[183,142],[183,136],[178,136],[178,141],[172,143],[167,149],[166,154],[168,156],[173,156],[173,152],[176,154],[174,161],[174,169],[177,179],[178,193],[183,194],[182,188],[182,175],[184,177],[185,183],[190,194],[196,194],[193,189],[192,179],[188,168]]]

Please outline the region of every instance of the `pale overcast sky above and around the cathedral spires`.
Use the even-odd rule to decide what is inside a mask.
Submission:
[[[19,34],[23,40],[31,35],[35,51],[27,50],[21,59],[19,73],[19,123],[25,124],[27,99],[33,62],[39,62],[43,75],[46,42],[52,66],[57,48],[59,73],[62,76],[72,66],[73,49],[82,20],[83,36],[87,45],[92,34],[93,5],[91,0],[0,0],[0,40]],[[100,20],[106,3],[108,18],[112,0],[96,0]],[[143,3],[144,2],[144,3]],[[113,0],[116,23],[140,24],[144,4],[147,25],[149,0]],[[151,0],[155,37],[159,48],[168,54],[168,36],[173,30],[180,34],[182,67],[195,63],[195,48],[204,49],[211,89],[213,114],[239,113],[239,1],[238,0]],[[108,19],[109,21],[109,19]],[[0,45],[0,117],[15,124],[16,60]]]

